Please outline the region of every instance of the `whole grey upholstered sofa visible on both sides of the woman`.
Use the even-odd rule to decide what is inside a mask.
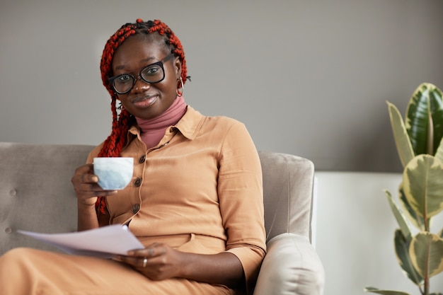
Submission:
[[[16,229],[76,230],[70,180],[92,148],[0,143],[0,255],[18,246],[57,250]],[[260,151],[260,161],[267,255],[254,295],[323,294],[323,265],[310,243],[313,163],[266,151]]]

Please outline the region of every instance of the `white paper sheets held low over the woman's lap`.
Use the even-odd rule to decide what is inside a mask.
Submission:
[[[127,226],[119,224],[75,233],[35,233],[22,230],[18,230],[18,233],[55,245],[73,255],[113,258],[116,254],[126,255],[128,250],[144,248]]]

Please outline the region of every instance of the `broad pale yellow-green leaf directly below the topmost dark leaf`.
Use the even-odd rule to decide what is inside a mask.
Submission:
[[[443,210],[443,164],[430,155],[415,156],[403,170],[403,190],[410,206],[429,219]]]

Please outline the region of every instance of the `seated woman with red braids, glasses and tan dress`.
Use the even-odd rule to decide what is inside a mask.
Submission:
[[[100,70],[113,129],[72,178],[78,229],[127,224],[145,248],[113,260],[14,249],[0,258],[0,294],[251,291],[265,230],[260,161],[244,125],[185,104],[185,54],[161,21],[123,25]],[[133,157],[132,183],[103,190],[96,156]]]

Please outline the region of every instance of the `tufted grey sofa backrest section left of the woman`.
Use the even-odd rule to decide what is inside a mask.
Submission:
[[[16,247],[57,250],[17,233],[76,231],[74,169],[93,146],[0,143],[0,255]]]

